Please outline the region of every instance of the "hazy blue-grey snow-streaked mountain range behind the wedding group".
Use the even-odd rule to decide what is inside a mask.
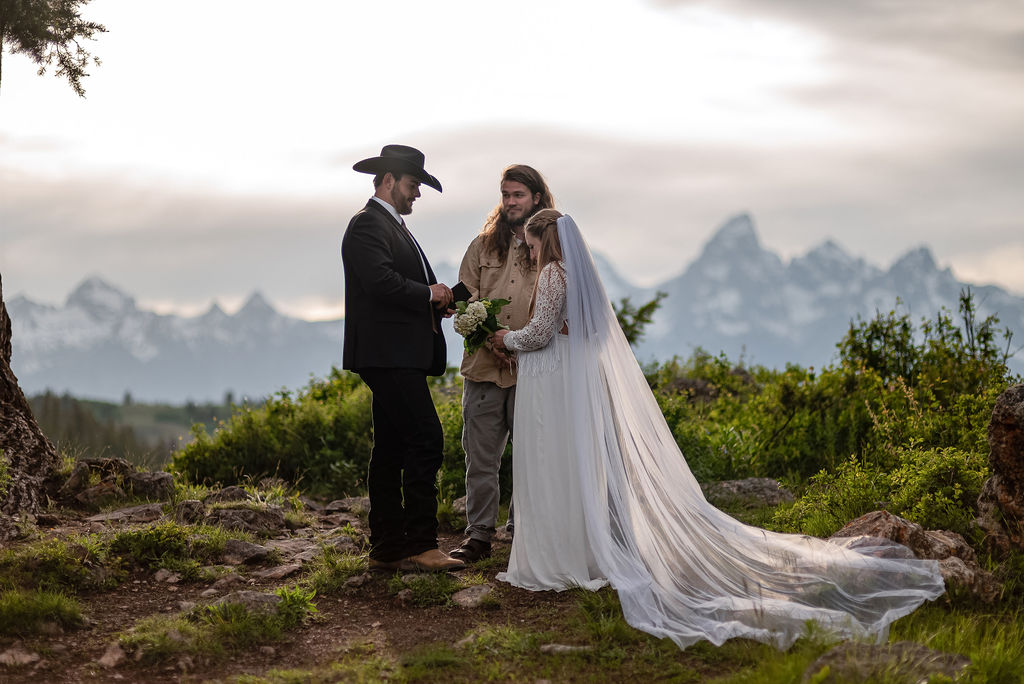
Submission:
[[[883,269],[834,242],[784,263],[766,250],[748,214],[725,222],[700,255],[653,288],[622,277],[600,254],[595,262],[609,298],[635,304],[657,291],[669,296],[636,347],[641,360],[688,356],[696,347],[748,364],[821,367],[857,315],[897,305],[916,322],[945,307],[954,312],[962,288],[921,247]],[[454,283],[456,267],[435,272]],[[1024,333],[1024,297],[972,286],[979,317],[995,313],[1000,328]],[[7,302],[12,368],[28,393],[52,389],[77,396],[181,402],[265,396],[296,389],[341,361],[342,320],[284,315],[259,293],[233,314],[213,304],[198,316],[158,314],[99,277],[81,283],[62,306],[19,295]],[[445,324],[450,362],[462,340]],[[1024,370],[1024,354],[1012,366]]]

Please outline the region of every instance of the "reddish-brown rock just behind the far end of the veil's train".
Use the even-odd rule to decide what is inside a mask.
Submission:
[[[874,511],[852,520],[828,541],[857,549],[861,553],[894,557],[900,553],[880,540],[907,547],[918,558],[939,561],[946,589],[956,588],[991,603],[1002,587],[991,572],[981,568],[974,549],[956,532],[925,529],[888,511]]]

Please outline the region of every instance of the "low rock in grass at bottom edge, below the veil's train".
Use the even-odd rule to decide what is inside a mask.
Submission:
[[[933,651],[912,641],[893,644],[842,643],[826,651],[804,673],[804,682],[927,682],[934,676],[955,679],[971,665],[963,655]],[[822,671],[827,668],[827,674]],[[943,680],[945,681],[945,680]]]

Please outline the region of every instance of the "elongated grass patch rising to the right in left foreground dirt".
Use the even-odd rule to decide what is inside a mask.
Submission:
[[[284,587],[274,593],[281,600],[273,612],[249,610],[237,603],[201,606],[188,613],[145,617],[122,634],[120,641],[126,649],[140,651],[146,661],[180,654],[216,656],[278,641],[304,624],[316,607],[310,591]]]

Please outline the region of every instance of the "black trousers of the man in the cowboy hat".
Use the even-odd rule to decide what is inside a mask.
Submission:
[[[370,557],[393,561],[437,548],[437,471],[444,435],[427,375],[415,369],[362,369],[373,392]]]

